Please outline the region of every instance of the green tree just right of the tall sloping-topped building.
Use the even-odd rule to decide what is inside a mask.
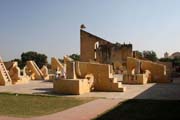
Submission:
[[[157,61],[157,55],[154,51],[143,51],[143,57],[151,61]]]

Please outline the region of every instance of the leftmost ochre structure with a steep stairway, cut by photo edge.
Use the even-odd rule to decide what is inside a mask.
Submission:
[[[12,80],[9,76],[9,73],[3,63],[3,60],[0,58],[0,85],[11,85]]]

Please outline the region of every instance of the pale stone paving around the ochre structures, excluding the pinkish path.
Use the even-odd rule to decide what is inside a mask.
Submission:
[[[125,92],[91,92],[83,95],[65,95],[67,97],[99,97],[113,99],[180,99],[180,79],[173,83],[127,85]],[[30,81],[27,84],[0,86],[0,92],[24,94],[53,94],[53,85],[49,81]],[[63,95],[61,95],[63,96]]]

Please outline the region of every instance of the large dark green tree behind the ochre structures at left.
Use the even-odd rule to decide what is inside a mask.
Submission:
[[[45,54],[37,53],[34,51],[29,51],[21,54],[21,61],[23,67],[26,65],[26,62],[29,60],[35,61],[39,68],[47,64],[47,56]]]

